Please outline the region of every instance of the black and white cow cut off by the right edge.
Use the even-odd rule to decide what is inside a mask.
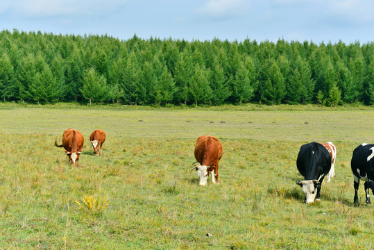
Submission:
[[[359,145],[353,151],[350,167],[352,168],[355,187],[355,198],[353,201],[359,203],[357,190],[359,190],[359,180],[362,180],[365,181],[366,203],[370,204],[370,189],[374,194],[374,144],[363,143]]]

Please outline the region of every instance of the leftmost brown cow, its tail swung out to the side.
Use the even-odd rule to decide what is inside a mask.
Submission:
[[[83,143],[85,142],[82,133],[73,128],[68,128],[62,135],[62,145],[57,144],[56,147],[64,147],[65,153],[73,165],[78,166],[79,155],[82,153]]]

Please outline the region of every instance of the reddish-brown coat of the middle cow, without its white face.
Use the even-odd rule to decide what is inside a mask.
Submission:
[[[218,163],[221,160],[223,154],[223,147],[221,142],[210,135],[203,135],[197,139],[195,145],[195,158],[201,165],[210,166],[208,167],[209,173],[214,169],[214,176],[216,182],[219,183],[218,178]]]

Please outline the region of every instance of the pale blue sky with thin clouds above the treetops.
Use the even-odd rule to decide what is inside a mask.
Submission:
[[[128,40],[374,42],[373,0],[0,0],[0,30]]]

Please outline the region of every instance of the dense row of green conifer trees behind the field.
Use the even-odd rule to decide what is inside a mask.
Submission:
[[[0,32],[1,101],[374,103],[374,43]]]

